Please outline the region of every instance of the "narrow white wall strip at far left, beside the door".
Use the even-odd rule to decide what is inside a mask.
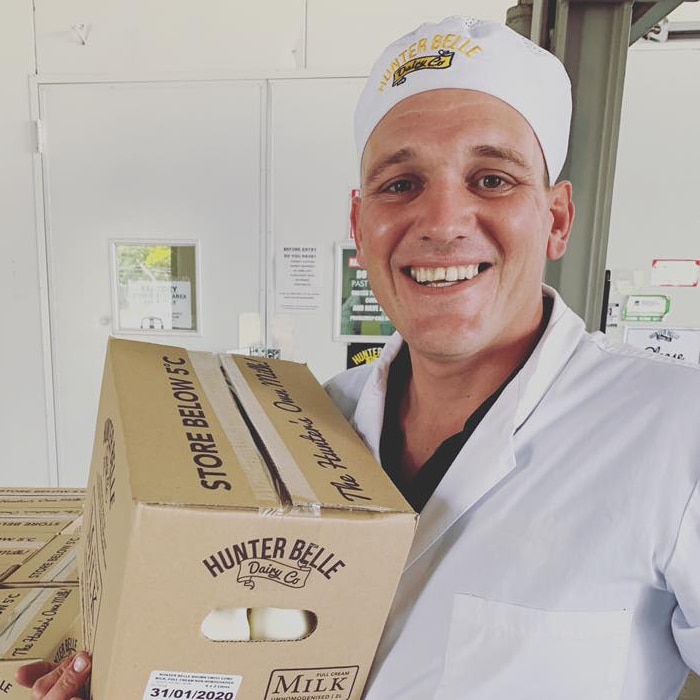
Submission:
[[[32,4],[0,4],[0,483],[45,484],[47,421],[29,107]]]

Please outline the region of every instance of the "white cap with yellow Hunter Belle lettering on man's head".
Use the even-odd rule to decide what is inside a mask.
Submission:
[[[550,184],[556,182],[571,122],[571,83],[564,66],[500,22],[465,17],[422,24],[379,57],[355,110],[359,157],[392,107],[440,88],[485,92],[520,112],[540,142]]]

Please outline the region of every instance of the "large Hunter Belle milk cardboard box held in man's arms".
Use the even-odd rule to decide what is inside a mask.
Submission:
[[[416,518],[304,365],[112,339],[83,518],[93,699],[358,700]],[[269,641],[274,609],[310,634]],[[205,636],[233,610],[265,641]]]

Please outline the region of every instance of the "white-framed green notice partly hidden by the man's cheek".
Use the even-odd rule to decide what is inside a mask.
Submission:
[[[354,243],[339,243],[335,270],[335,337],[366,342],[386,340],[394,326],[379,306],[367,278],[357,262]]]

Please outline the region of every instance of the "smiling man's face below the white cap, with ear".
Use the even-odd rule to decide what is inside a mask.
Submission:
[[[360,263],[413,352],[438,360],[536,331],[547,257],[564,254],[569,183],[546,184],[530,125],[472,90],[403,100],[377,125],[353,202]]]

